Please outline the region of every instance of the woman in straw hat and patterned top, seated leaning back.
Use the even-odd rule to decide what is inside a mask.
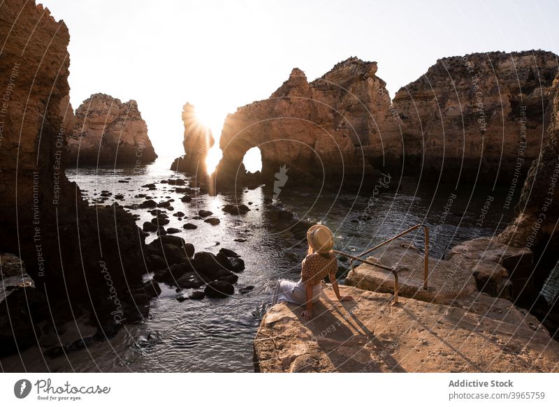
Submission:
[[[340,301],[351,301],[349,295],[340,295],[337,286],[337,259],[332,251],[334,237],[330,229],[324,225],[314,225],[307,231],[309,251],[301,268],[301,278],[296,283],[289,280],[279,280],[275,287],[272,305],[278,302],[293,302],[307,304],[307,309],[301,313],[303,318],[312,318],[312,304],[319,300],[322,294],[321,281],[326,276],[332,282],[334,293]]]

